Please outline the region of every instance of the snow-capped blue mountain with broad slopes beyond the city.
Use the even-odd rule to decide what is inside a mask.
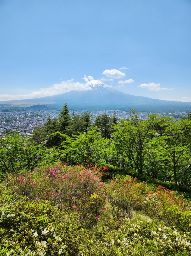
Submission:
[[[148,97],[135,96],[118,91],[111,86],[106,85],[100,80],[92,80],[86,83],[91,90],[86,91],[69,91],[63,94],[46,96],[36,99],[15,100],[11,102],[0,102],[0,104],[16,104],[16,105],[46,105],[51,107],[61,107],[67,103],[72,109],[121,109],[129,108],[139,109],[140,111],[149,112],[170,112],[174,110],[188,111],[191,109],[191,102],[176,102]]]

